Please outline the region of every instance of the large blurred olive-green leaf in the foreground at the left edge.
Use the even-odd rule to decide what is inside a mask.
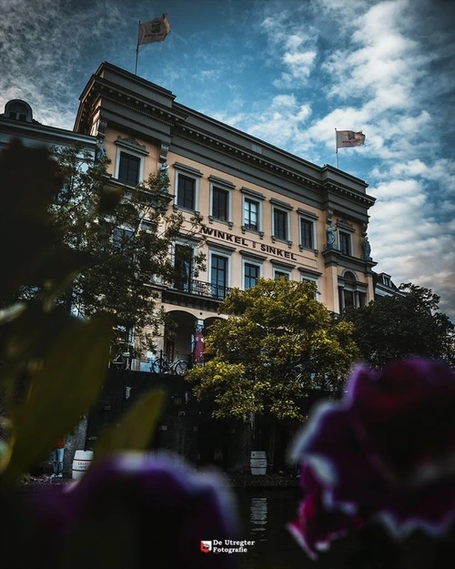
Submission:
[[[112,323],[77,320],[45,355],[24,401],[10,410],[12,455],[5,469],[15,479],[52,449],[96,400],[109,358]]]

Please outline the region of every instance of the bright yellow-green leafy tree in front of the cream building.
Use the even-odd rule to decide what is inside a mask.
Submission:
[[[199,398],[213,398],[215,417],[266,413],[303,418],[309,390],[338,393],[357,348],[352,325],[335,322],[315,300],[315,285],[259,279],[233,290],[206,338],[211,355],[187,373]]]

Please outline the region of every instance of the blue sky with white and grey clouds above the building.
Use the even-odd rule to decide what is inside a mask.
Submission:
[[[0,0],[0,112],[23,98],[72,128],[102,61],[134,71],[138,20],[171,33],[137,73],[177,101],[322,166],[377,198],[377,270],[441,297],[455,320],[455,27],[451,0]]]

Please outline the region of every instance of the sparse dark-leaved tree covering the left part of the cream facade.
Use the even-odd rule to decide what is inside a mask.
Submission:
[[[94,161],[79,146],[54,154],[66,179],[51,208],[56,249],[69,247],[90,259],[60,301],[85,317],[116,315],[126,337],[145,327],[156,333],[164,315],[155,310],[153,280],[176,279],[172,242],[200,232],[201,218],[186,221],[181,212],[168,212],[165,169],[122,189],[109,184],[108,159]],[[196,272],[203,259],[194,259]]]

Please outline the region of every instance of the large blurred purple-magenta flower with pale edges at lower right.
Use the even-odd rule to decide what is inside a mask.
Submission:
[[[455,519],[455,375],[420,358],[359,365],[291,454],[304,500],[289,529],[313,559],[370,522],[396,542],[414,531],[443,538]]]

